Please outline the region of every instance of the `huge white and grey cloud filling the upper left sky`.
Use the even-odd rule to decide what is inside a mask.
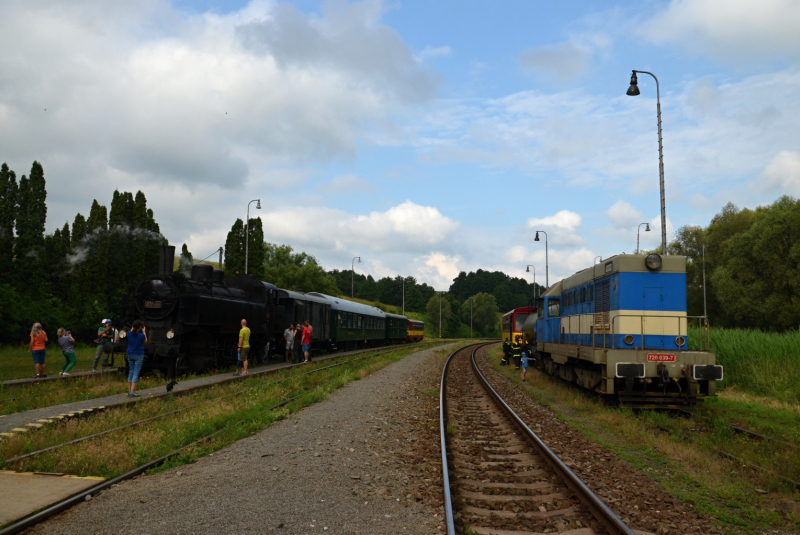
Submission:
[[[382,13],[377,0],[322,16],[259,1],[224,16],[167,0],[3,2],[0,146],[61,187],[87,179],[87,162],[238,188],[352,159],[361,132],[391,129],[390,114],[438,86]]]

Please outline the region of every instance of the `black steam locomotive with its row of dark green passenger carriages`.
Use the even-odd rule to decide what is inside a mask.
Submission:
[[[187,277],[173,273],[174,259],[175,247],[162,246],[159,274],[142,281],[123,302],[123,323],[139,319],[147,327],[143,371],[159,370],[174,379],[234,364],[242,319],[251,332],[251,364],[283,353],[284,330],[306,320],[313,326],[312,353],[422,338],[421,333],[409,337],[406,316],[320,293],[284,290],[249,275],[225,277],[208,264],[193,265]],[[415,330],[422,330],[420,323],[414,322]]]

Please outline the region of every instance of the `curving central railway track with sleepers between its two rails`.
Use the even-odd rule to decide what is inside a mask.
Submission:
[[[455,351],[440,388],[440,433],[448,535],[634,532],[503,401],[475,353]]]

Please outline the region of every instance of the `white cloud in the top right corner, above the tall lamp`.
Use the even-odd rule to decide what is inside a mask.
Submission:
[[[639,33],[656,44],[682,46],[689,54],[742,61],[796,57],[798,28],[796,0],[672,0]]]

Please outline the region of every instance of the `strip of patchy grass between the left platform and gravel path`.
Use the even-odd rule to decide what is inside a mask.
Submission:
[[[403,348],[367,359],[348,361],[342,366],[315,374],[305,373],[331,365],[330,362],[320,362],[267,377],[252,377],[238,383],[217,385],[191,395],[168,396],[115,408],[91,418],[70,420],[42,428],[35,433],[11,437],[0,443],[0,459],[11,459],[183,408],[186,410],[177,414],[64,446],[5,467],[112,478],[221,431],[212,440],[184,451],[171,460],[166,468],[193,462],[202,455],[261,431],[287,415],[325,399],[347,383],[366,377],[421,349],[423,348]],[[356,358],[358,357],[354,357]],[[280,379],[284,381],[278,382]],[[298,399],[286,406],[268,410],[298,395]]]

